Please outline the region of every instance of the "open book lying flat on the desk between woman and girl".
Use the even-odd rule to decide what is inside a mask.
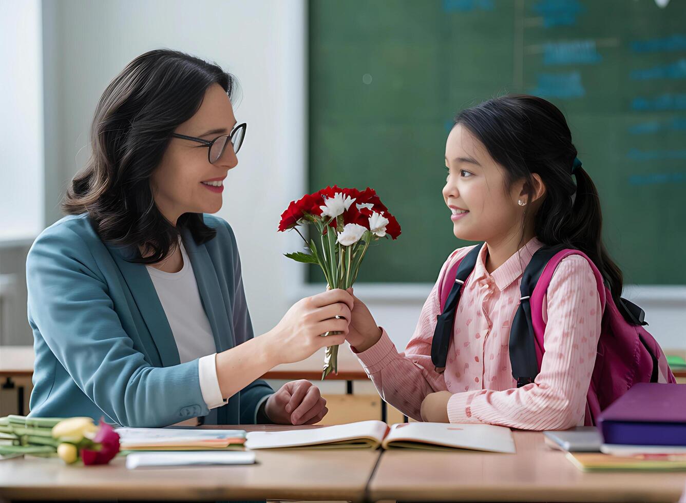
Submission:
[[[390,428],[381,421],[283,432],[248,432],[248,449],[469,449],[514,453],[510,428],[490,424],[402,423]]]

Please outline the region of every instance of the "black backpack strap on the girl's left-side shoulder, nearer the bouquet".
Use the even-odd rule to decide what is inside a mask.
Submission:
[[[448,358],[448,348],[450,347],[450,341],[453,337],[455,312],[458,307],[458,302],[460,302],[462,285],[464,285],[464,282],[474,270],[481,249],[481,246],[475,247],[460,261],[460,266],[455,274],[455,282],[445,301],[443,312],[436,317],[434,338],[431,339],[431,362],[434,363],[437,372],[445,371],[445,362]],[[447,280],[448,278],[446,278],[446,281]]]

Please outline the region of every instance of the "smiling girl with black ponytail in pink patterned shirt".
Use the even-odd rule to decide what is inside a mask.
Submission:
[[[576,156],[565,117],[545,99],[499,97],[458,115],[445,147],[443,199],[455,236],[485,243],[464,284],[443,373],[431,363],[438,282],[403,353],[355,298],[347,340],[384,400],[425,421],[528,430],[584,424],[602,319],[585,258],[562,260],[549,284],[546,351],[534,382],[517,388],[508,347],[522,273],[543,245],[580,249],[615,302],[622,292],[622,273],[601,240],[598,193]],[[473,248],[453,252],[439,278]]]

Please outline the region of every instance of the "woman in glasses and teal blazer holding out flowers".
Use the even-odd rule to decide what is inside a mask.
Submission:
[[[104,91],[68,216],[27,258],[30,415],[158,427],[314,424],[327,413],[309,382],[274,393],[259,377],[342,343],[351,295],[303,299],[253,338],[233,231],[208,214],[246,132],[234,87],[215,64],[158,50]],[[329,331],[342,333],[320,336]]]

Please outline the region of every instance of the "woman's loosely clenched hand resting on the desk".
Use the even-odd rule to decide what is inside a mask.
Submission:
[[[287,382],[267,399],[265,414],[276,424],[315,424],[327,415],[327,400],[307,380]]]

